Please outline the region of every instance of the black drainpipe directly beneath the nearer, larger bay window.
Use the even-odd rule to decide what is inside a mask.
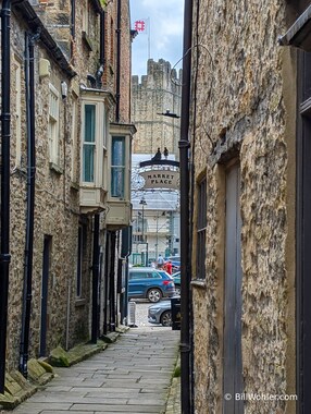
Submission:
[[[92,301],[91,301],[91,342],[97,343],[98,336],[98,273],[99,273],[99,212],[94,217],[92,247]]]

